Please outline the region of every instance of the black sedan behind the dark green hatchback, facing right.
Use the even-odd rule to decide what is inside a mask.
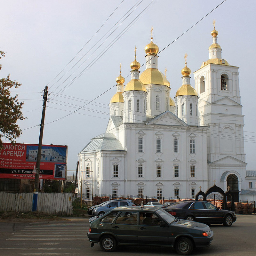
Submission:
[[[236,221],[235,212],[221,210],[215,205],[204,201],[180,201],[164,208],[164,210],[176,218],[206,224],[231,226]]]

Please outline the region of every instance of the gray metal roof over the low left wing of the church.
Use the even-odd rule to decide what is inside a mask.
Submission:
[[[97,152],[100,150],[125,151],[120,141],[116,140],[116,136],[113,133],[102,133],[99,136],[92,138],[91,141],[81,150],[81,152]]]

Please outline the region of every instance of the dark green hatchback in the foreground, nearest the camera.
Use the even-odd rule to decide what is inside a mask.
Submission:
[[[106,252],[114,251],[117,245],[132,244],[169,246],[181,255],[189,255],[195,247],[212,243],[213,232],[209,226],[174,218],[159,207],[152,208],[116,207],[93,217],[87,233],[89,241],[92,246],[100,243]]]

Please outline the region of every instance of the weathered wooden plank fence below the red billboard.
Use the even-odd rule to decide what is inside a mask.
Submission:
[[[37,211],[53,215],[72,215],[72,193],[38,193]],[[31,212],[33,193],[0,192],[0,211]]]

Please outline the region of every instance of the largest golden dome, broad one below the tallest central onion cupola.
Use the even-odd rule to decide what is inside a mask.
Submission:
[[[143,84],[163,84],[170,87],[167,78],[157,68],[147,68],[140,75]]]

